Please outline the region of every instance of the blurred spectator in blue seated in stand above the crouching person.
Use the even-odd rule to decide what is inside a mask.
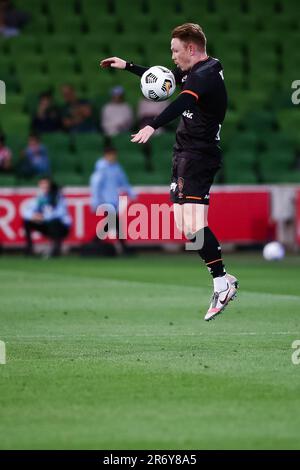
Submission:
[[[31,134],[26,149],[21,153],[18,174],[25,178],[31,178],[48,173],[50,173],[50,164],[47,149],[37,134]]]

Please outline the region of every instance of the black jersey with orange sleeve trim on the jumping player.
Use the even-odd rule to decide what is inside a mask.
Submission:
[[[175,71],[182,93],[190,93],[197,101],[186,109],[176,131],[176,153],[197,156],[204,150],[219,152],[221,125],[227,108],[227,93],[220,62],[208,57],[195,64],[188,73]]]

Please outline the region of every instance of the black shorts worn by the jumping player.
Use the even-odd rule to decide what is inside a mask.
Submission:
[[[187,154],[173,156],[171,201],[179,204],[209,204],[209,191],[217,171],[221,168],[220,155]]]

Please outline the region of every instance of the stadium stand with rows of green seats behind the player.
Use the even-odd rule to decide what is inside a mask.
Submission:
[[[17,37],[0,38],[0,74],[7,104],[0,128],[17,158],[25,142],[38,94],[71,83],[92,100],[97,113],[109,89],[122,84],[134,107],[141,97],[137,78],[101,72],[99,59],[110,54],[144,65],[172,67],[170,30],[183,22],[203,26],[208,53],[224,65],[229,111],[221,136],[223,183],[272,183],[300,180],[300,111],[291,102],[297,79],[300,20],[296,0],[22,0],[17,7],[31,20]],[[234,21],[233,21],[234,19]],[[142,36],[142,37],[141,37]],[[299,77],[298,77],[299,78]],[[153,139],[155,170],[144,170],[143,155],[125,134],[115,138],[120,160],[135,184],[166,184],[174,135]],[[100,133],[44,136],[52,168],[63,184],[87,184],[101,155]],[[0,178],[14,184],[13,177]]]

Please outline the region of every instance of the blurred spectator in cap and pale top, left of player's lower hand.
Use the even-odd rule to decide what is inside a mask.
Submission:
[[[114,136],[129,131],[133,125],[133,111],[125,102],[124,88],[116,86],[111,90],[111,100],[100,113],[101,127],[105,135]]]

